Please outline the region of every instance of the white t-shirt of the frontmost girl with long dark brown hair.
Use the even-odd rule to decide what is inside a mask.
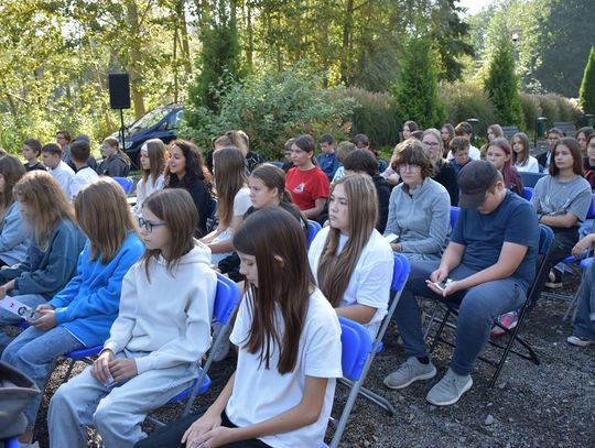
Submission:
[[[226,406],[229,420],[246,427],[272,418],[296,405],[303,398],[307,376],[327,378],[324,403],[318,419],[289,433],[259,437],[273,448],[318,447],[326,431],[333,407],[335,379],[343,375],[340,368],[340,326],[335,310],[320,289],[310,296],[306,318],[300,336],[295,369],[280,374],[277,370],[279,350],[272,349],[266,369],[259,353],[249,353],[242,346],[248,341],[252,323],[252,298],[244,296],[234,331],[229,339],[239,348],[234,392]],[[279,337],[283,338],[283,319],[275,316]]]

